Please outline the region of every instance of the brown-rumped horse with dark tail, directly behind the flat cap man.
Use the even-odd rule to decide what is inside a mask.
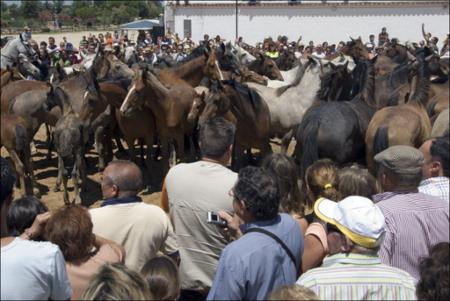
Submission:
[[[375,113],[366,133],[366,161],[375,174],[373,157],[392,145],[420,145],[430,136],[431,122],[426,112],[430,75],[425,57],[431,50],[419,49],[416,54],[418,74],[413,80],[412,93],[405,104],[385,107]]]

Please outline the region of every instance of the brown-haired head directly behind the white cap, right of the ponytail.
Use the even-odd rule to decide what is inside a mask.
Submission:
[[[345,167],[338,172],[340,197],[359,195],[369,199],[380,192],[376,179],[365,168],[358,165]]]

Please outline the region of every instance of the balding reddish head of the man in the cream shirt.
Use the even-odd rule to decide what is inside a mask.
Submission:
[[[103,172],[102,186],[116,186],[118,197],[138,194],[142,184],[141,170],[131,161],[112,161]]]

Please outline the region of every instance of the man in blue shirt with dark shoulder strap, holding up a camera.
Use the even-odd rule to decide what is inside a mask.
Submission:
[[[234,216],[219,215],[240,237],[222,251],[208,300],[264,300],[273,289],[295,284],[303,235],[293,217],[278,213],[276,180],[262,168],[241,169],[231,195]]]

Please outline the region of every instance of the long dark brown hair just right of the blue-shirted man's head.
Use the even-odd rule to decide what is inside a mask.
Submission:
[[[294,159],[285,154],[273,153],[264,159],[261,167],[277,180],[280,211],[303,215],[305,206],[301,202]]]

